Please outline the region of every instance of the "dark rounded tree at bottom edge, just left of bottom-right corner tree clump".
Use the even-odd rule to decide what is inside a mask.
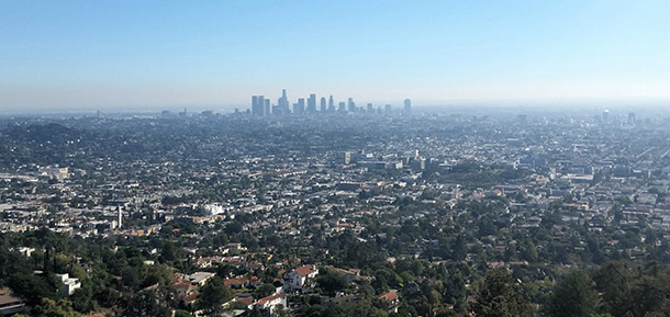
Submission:
[[[548,315],[552,317],[589,317],[595,313],[598,292],[591,276],[573,271],[554,287]]]

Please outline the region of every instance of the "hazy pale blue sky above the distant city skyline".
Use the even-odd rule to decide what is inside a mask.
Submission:
[[[667,0],[0,5],[0,112],[670,101]]]

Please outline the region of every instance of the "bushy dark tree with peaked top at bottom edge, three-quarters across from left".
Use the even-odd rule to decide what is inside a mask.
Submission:
[[[487,272],[480,280],[472,310],[478,317],[528,316],[531,306],[506,269]]]

